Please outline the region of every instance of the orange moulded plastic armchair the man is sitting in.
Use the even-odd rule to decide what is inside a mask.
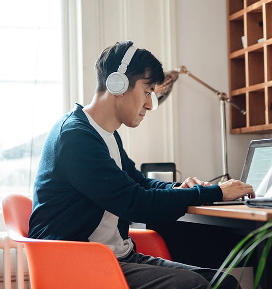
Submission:
[[[24,243],[32,289],[129,288],[117,258],[106,245],[28,238],[32,200],[20,194],[10,194],[3,198],[2,207],[9,236]],[[146,232],[148,241],[144,244],[153,247],[149,255],[169,257],[161,237],[152,230]],[[141,245],[146,236],[144,230],[133,229],[132,235],[138,251],[148,254],[145,245]],[[165,247],[159,247],[160,252],[155,254],[157,245]],[[166,255],[162,256],[165,252]]]

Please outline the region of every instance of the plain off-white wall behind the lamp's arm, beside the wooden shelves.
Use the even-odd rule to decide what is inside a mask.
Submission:
[[[177,0],[178,64],[220,92],[228,92],[227,7],[223,0]],[[189,76],[178,79],[180,170],[183,177],[211,180],[222,173],[218,97]],[[251,139],[230,135],[226,104],[228,172],[240,178]]]

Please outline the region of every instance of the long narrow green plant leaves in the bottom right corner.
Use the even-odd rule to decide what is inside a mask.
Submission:
[[[243,267],[246,267],[254,250],[262,242],[264,242],[264,245],[254,279],[254,289],[256,289],[263,274],[265,263],[272,245],[272,220],[269,220],[258,229],[249,233],[232,249],[225,261],[220,266],[218,273],[216,273],[212,279],[211,288],[217,289],[226,275],[230,273],[240,262],[244,261]],[[218,279],[220,271],[222,271],[224,268],[226,268],[224,273]],[[240,281],[242,277],[243,273],[240,276]]]

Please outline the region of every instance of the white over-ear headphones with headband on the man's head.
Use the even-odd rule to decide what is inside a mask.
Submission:
[[[125,75],[127,66],[129,62],[131,61],[134,53],[136,52],[138,48],[135,46],[130,46],[128,50],[126,51],[120,66],[118,67],[118,70],[116,72],[111,73],[107,80],[106,80],[106,86],[110,93],[114,95],[121,95],[125,93],[128,89],[128,78]]]

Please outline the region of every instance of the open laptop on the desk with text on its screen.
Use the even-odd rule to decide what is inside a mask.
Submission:
[[[256,199],[272,197],[272,139],[252,140],[250,142],[240,180],[253,186]],[[248,200],[250,199],[248,198]],[[244,203],[240,199],[216,201],[209,204]]]

